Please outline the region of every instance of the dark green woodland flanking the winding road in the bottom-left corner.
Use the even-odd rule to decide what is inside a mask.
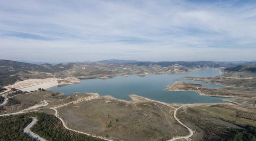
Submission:
[[[0,117],[0,141],[33,141],[23,133],[24,128],[31,122],[29,117],[37,118],[37,123],[31,128],[32,132],[49,141],[104,141],[67,130],[57,117],[36,112]]]

